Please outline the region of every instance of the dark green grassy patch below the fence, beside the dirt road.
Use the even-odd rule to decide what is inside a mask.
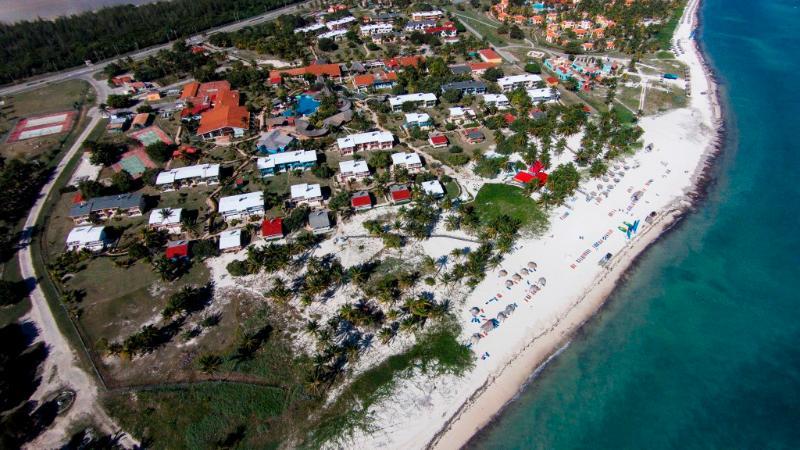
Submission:
[[[273,448],[271,424],[284,411],[283,389],[204,383],[181,389],[112,394],[109,412],[152,448]]]

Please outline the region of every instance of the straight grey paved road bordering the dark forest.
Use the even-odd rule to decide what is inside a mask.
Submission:
[[[262,22],[266,22],[266,21],[275,19],[278,16],[282,16],[284,14],[293,13],[296,10],[300,9],[301,6],[305,6],[305,5],[309,4],[309,3],[311,3],[311,2],[307,1],[307,2],[303,2],[303,3],[297,3],[297,4],[294,4],[294,5],[286,6],[286,7],[281,8],[281,9],[276,9],[276,10],[270,11],[270,12],[268,12],[266,14],[262,14],[260,16],[252,17],[250,19],[245,19],[245,20],[241,20],[239,22],[234,22],[234,23],[229,24],[229,25],[224,25],[224,26],[221,26],[221,27],[212,28],[210,30],[204,31],[201,34],[194,35],[194,36],[190,37],[187,40],[188,41],[202,40],[205,35],[207,35],[208,33],[215,32],[215,31],[236,31],[236,30],[238,30],[240,28],[244,28],[244,27],[247,27],[247,26],[256,25],[256,24],[259,24],[259,23],[262,23]],[[40,86],[45,85],[45,84],[55,83],[55,82],[64,81],[64,80],[70,80],[70,79],[73,79],[73,78],[84,78],[84,79],[91,78],[91,75],[93,73],[95,73],[95,72],[97,72],[99,70],[102,70],[105,66],[107,66],[112,61],[116,61],[116,60],[118,60],[120,58],[127,57],[127,56],[130,56],[133,59],[142,59],[142,58],[145,58],[147,56],[150,56],[150,55],[153,55],[153,54],[157,53],[159,50],[168,49],[168,48],[171,48],[171,47],[172,47],[172,42],[169,42],[169,43],[166,43],[166,44],[163,44],[163,45],[157,45],[155,47],[146,48],[146,49],[143,49],[143,50],[140,50],[140,51],[137,51],[137,52],[132,52],[132,53],[129,53],[129,54],[126,54],[126,55],[120,55],[118,57],[115,57],[115,58],[112,58],[112,59],[108,59],[106,61],[102,61],[102,62],[98,62],[96,64],[92,64],[91,66],[83,66],[83,67],[76,67],[74,69],[67,69],[67,70],[62,71],[62,72],[57,72],[57,73],[53,73],[53,74],[37,77],[37,78],[34,78],[34,79],[29,79],[29,80],[23,81],[23,82],[21,82],[19,84],[7,85],[7,86],[4,86],[4,87],[0,88],[0,95],[9,95],[9,94],[17,93],[17,92],[23,92],[23,91],[27,91],[27,90],[30,90],[30,89],[35,89],[35,88],[40,87]]]

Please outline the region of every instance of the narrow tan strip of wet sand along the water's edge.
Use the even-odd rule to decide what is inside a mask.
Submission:
[[[693,0],[687,4],[673,40],[680,40],[678,33],[684,25],[688,24],[690,29],[701,26],[701,2],[702,0]],[[690,41],[691,49],[687,48],[686,52],[699,61],[700,70],[708,84],[706,95],[710,99],[713,137],[700,156],[689,187],[684,190],[683,195],[660,208],[657,219],[626,246],[621,254],[616,255],[612,264],[595,277],[584,294],[569,305],[556,324],[530,339],[495,371],[496,375],[489,375],[439,427],[425,448],[463,447],[482,429],[491,425],[522,390],[538,377],[547,364],[569,345],[572,337],[602,310],[617,288],[624,285],[629,269],[645,255],[646,250],[668,236],[705,199],[708,186],[715,179],[711,173],[715,169],[714,162],[722,151],[726,134],[725,115],[718,80],[708,62],[708,56],[697,39]]]

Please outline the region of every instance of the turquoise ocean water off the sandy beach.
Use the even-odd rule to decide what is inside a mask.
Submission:
[[[800,1],[701,21],[728,116],[708,197],[470,447],[800,448]]]

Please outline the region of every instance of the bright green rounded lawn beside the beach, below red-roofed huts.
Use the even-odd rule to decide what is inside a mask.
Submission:
[[[508,184],[485,184],[475,197],[475,209],[481,220],[502,215],[517,219],[524,229],[539,230],[546,226],[547,216],[522,189]]]

